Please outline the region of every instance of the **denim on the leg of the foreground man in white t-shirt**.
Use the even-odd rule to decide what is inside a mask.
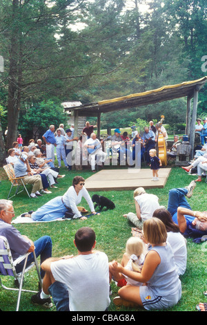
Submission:
[[[57,311],[70,311],[68,288],[65,284],[55,281],[51,284],[48,290],[52,296]]]

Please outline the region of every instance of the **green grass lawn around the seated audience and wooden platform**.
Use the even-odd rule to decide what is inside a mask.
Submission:
[[[108,168],[108,167],[106,167]],[[112,167],[115,168],[115,167]],[[146,168],[146,167],[145,167]],[[149,170],[149,172],[151,172]],[[24,192],[12,198],[14,203],[14,211],[16,216],[29,210],[36,210],[38,207],[49,201],[55,196],[62,195],[66,189],[72,184],[72,178],[81,175],[85,179],[91,176],[90,169],[83,171],[68,171],[61,167],[60,174],[66,174],[66,177],[59,180],[58,189],[52,189],[52,194],[44,194],[44,196],[32,199],[28,198]],[[0,198],[7,198],[10,183],[6,179],[3,168],[0,169]],[[180,167],[173,167],[164,189],[150,189],[146,192],[159,196],[159,203],[167,206],[168,191],[173,187],[185,187],[196,176],[189,176]],[[99,192],[115,202],[116,208],[112,211],[102,212],[100,216],[92,216],[87,221],[55,221],[51,223],[32,223],[14,225],[21,234],[26,234],[30,239],[35,241],[39,236],[49,235],[52,238],[53,249],[52,256],[62,256],[63,254],[76,254],[77,251],[72,241],[75,232],[82,226],[89,226],[95,230],[97,235],[97,250],[106,252],[109,261],[116,259],[121,261],[122,254],[125,249],[126,241],[131,236],[131,227],[124,219],[123,214],[127,212],[135,212],[133,203],[133,191],[110,191]],[[90,192],[91,196],[94,192]],[[193,210],[204,211],[206,206],[206,183],[199,183],[195,187],[194,194],[188,199]],[[88,208],[86,201],[82,201],[81,205]],[[206,302],[203,295],[207,289],[207,266],[206,266],[206,246],[205,243],[196,244],[192,239],[187,239],[188,246],[188,264],[185,275],[181,277],[182,297],[177,306],[169,308],[170,311],[195,311],[197,303]],[[3,281],[7,284],[13,284],[13,279],[6,277]],[[80,279],[81,281],[81,279]],[[30,270],[25,277],[24,288],[37,290],[37,275],[34,269]],[[144,311],[142,308],[124,308],[117,307],[113,304],[113,297],[117,296],[119,288],[112,283],[112,296],[109,311],[138,310]],[[90,290],[90,288],[88,288]],[[23,311],[41,311],[45,310],[41,307],[33,306],[30,302],[31,293],[22,293],[19,310]],[[0,289],[0,308],[5,311],[13,311],[16,307],[17,293]],[[52,310],[55,310],[53,308]],[[51,310],[48,310],[48,312]]]

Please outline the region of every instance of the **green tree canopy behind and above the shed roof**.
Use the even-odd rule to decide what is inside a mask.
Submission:
[[[38,115],[43,102],[86,104],[206,74],[201,69],[207,55],[206,1],[154,0],[147,5],[141,0],[0,1],[5,65],[0,104],[6,112],[1,124],[8,126],[8,148],[19,122],[26,131],[26,119],[34,107]],[[26,109],[30,112],[24,114]],[[128,110],[122,122],[159,119],[160,113],[166,122],[184,122],[185,110],[184,99],[174,100]],[[198,113],[205,111],[206,86]],[[104,116],[103,127],[112,127],[110,120],[112,114]]]

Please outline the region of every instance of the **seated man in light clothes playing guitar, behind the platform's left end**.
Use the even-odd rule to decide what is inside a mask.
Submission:
[[[101,144],[103,141],[99,141],[97,139],[97,135],[95,133],[90,134],[90,138],[84,142],[84,147],[88,150],[88,159],[91,165],[91,170],[95,171],[95,165],[102,165],[106,160],[106,152],[103,152]]]

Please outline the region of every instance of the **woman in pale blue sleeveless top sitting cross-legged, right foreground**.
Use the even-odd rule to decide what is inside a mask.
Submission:
[[[166,227],[161,220],[151,218],[144,222],[143,231],[150,248],[141,273],[126,270],[116,261],[112,262],[112,270],[146,283],[146,286],[122,287],[114,303],[142,306],[147,310],[172,307],[181,299],[181,281],[177,275],[172,248],[166,243]]]

